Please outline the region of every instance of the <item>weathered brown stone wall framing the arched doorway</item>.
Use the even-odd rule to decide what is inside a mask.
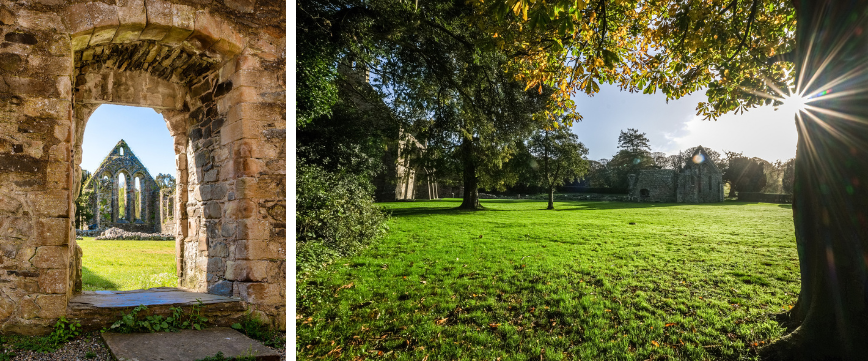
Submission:
[[[47,332],[80,292],[74,200],[100,104],[166,120],[180,285],[286,327],[285,4],[0,0],[0,332]]]

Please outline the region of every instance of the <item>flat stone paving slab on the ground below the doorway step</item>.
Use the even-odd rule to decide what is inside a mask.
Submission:
[[[226,358],[253,356],[278,361],[280,354],[256,340],[227,327],[200,331],[102,334],[118,361],[190,361],[223,352]]]

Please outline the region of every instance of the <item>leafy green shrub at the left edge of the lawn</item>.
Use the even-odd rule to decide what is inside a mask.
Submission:
[[[387,230],[366,180],[299,163],[296,171],[296,267],[315,270],[349,256]]]

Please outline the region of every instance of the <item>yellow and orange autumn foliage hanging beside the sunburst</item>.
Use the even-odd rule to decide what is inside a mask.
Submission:
[[[528,86],[550,86],[563,108],[600,83],[677,99],[706,89],[698,112],[716,119],[780,99],[792,82],[789,2],[500,0],[475,2],[491,47]],[[757,94],[771,94],[761,96]],[[777,102],[779,104],[779,102]],[[571,119],[567,119],[570,121]]]

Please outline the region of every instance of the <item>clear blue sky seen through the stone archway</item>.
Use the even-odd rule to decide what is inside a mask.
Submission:
[[[97,108],[84,128],[81,168],[90,172],[123,139],[148,169],[175,176],[174,141],[163,116],[151,108],[104,104]]]

